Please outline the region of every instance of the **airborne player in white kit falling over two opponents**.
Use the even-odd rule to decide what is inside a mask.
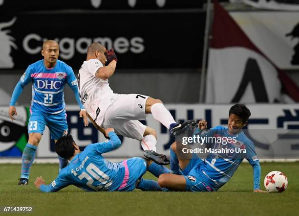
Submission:
[[[107,64],[107,66],[105,66]],[[182,128],[175,122],[162,101],[137,94],[115,94],[108,78],[113,75],[117,57],[113,49],[93,43],[88,47],[86,61],[79,70],[78,87],[81,102],[92,123],[101,130],[113,127],[115,133],[141,141],[144,155],[157,164],[169,164],[166,155],[156,153],[156,132],[142,124],[151,113],[155,120],[170,129],[171,133]]]

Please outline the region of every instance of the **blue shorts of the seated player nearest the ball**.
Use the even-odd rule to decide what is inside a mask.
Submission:
[[[192,192],[212,192],[212,188],[205,183],[202,175],[200,175],[200,165],[203,163],[195,153],[192,154],[188,166],[182,170],[186,179],[186,191]]]

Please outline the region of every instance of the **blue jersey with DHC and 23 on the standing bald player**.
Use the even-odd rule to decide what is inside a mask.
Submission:
[[[43,60],[29,65],[17,84],[10,105],[14,106],[24,86],[32,82],[31,110],[39,110],[48,114],[64,111],[64,85],[67,83],[75,93],[80,108],[77,79],[71,67],[57,60],[54,68],[46,68]]]

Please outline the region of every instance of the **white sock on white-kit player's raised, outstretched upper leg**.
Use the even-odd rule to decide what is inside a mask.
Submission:
[[[153,118],[160,121],[167,129],[172,123],[176,123],[170,112],[165,108],[163,103],[155,103],[150,107]]]

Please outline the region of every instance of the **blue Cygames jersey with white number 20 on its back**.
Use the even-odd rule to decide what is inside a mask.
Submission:
[[[117,191],[125,178],[124,163],[105,160],[103,153],[118,148],[121,141],[114,132],[108,134],[110,140],[89,144],[63,168],[49,185],[41,185],[42,192],[56,192],[68,185],[75,185],[87,192]]]

